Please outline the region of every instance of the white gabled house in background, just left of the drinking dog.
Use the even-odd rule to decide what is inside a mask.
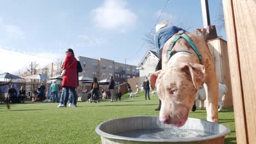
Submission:
[[[159,58],[154,51],[147,51],[141,62],[139,62],[136,69],[139,70],[139,77],[147,76],[155,72],[156,65],[158,65]]]

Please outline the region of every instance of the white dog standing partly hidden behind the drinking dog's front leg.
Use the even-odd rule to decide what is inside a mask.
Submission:
[[[218,109],[218,111],[222,110],[222,97],[224,94],[226,94],[226,92],[228,92],[228,88],[226,88],[226,85],[219,82],[219,109]],[[205,99],[206,99],[205,88],[201,87],[197,91],[196,97],[195,97],[195,100],[200,100],[200,103],[201,103],[200,109],[202,109]]]

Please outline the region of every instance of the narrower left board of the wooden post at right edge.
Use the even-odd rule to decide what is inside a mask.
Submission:
[[[225,18],[226,37],[228,40],[228,54],[230,76],[232,83],[234,115],[236,125],[236,141],[237,143],[248,143],[247,141],[247,125],[245,121],[245,109],[243,104],[243,95],[241,91],[240,63],[238,59],[238,46],[236,40],[236,25],[234,21],[234,8],[232,0],[223,2],[223,12]]]

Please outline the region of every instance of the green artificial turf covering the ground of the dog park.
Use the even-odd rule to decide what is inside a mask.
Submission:
[[[130,116],[158,116],[158,97],[145,100],[144,92],[135,99],[123,95],[121,102],[78,102],[78,107],[57,108],[57,103],[10,105],[0,104],[0,143],[101,143],[95,128],[113,118]],[[206,110],[190,112],[189,117],[206,119]],[[224,107],[219,123],[231,129],[225,143],[236,143],[234,110]]]

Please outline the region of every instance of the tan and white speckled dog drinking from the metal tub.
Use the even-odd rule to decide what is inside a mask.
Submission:
[[[188,119],[191,107],[194,105],[195,95],[199,87],[205,82],[206,99],[208,104],[207,121],[218,122],[218,79],[212,62],[208,46],[201,37],[185,32],[193,41],[202,56],[199,61],[195,51],[189,43],[180,38],[173,46],[173,50],[189,50],[177,52],[168,61],[168,48],[173,39],[168,39],[162,50],[162,70],[150,75],[152,89],[157,87],[158,97],[161,100],[159,120],[166,124],[181,127]]]

